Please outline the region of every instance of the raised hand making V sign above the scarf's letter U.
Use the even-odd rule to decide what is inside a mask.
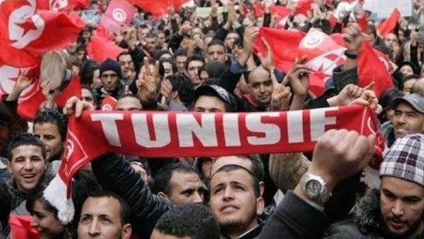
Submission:
[[[138,95],[142,102],[151,102],[155,100],[158,91],[158,73],[159,62],[155,62],[153,72],[151,72],[148,58],[144,57],[144,73],[140,72],[139,79],[136,81]]]

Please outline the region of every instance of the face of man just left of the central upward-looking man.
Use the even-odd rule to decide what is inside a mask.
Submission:
[[[199,175],[174,171],[170,179],[170,201],[175,204],[204,202],[204,189]]]

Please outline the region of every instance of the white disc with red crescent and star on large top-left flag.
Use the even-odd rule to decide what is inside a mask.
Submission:
[[[16,8],[10,13],[8,18],[9,40],[11,41],[11,46],[17,49],[23,49],[34,40],[37,40],[45,28],[45,21],[40,15],[35,14],[36,0],[27,1],[29,5]]]

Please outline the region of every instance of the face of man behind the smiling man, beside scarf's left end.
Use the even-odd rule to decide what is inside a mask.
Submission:
[[[45,143],[47,160],[50,160],[50,158],[57,159],[61,155],[64,144],[61,141],[57,124],[34,124],[34,134]]]

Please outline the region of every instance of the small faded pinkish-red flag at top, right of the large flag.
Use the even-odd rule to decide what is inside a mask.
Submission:
[[[128,1],[112,0],[100,21],[100,25],[103,25],[107,30],[119,34],[122,25],[129,25],[131,23],[134,13],[134,6]]]

